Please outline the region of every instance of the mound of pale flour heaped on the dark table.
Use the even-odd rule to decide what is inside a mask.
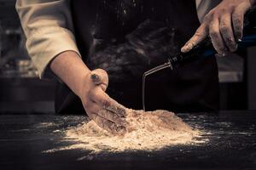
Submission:
[[[191,144],[200,135],[174,113],[169,111],[133,111],[128,113],[127,133],[113,135],[90,121],[66,131],[67,139],[75,144],[65,148],[92,152],[125,150],[160,150],[174,144]]]

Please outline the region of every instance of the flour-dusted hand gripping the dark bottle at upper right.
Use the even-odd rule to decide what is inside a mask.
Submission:
[[[206,37],[212,39],[213,47],[218,54],[235,52],[237,41],[241,41],[243,17],[256,0],[223,0],[205,16],[201,26],[195,31],[181,51],[189,52]]]

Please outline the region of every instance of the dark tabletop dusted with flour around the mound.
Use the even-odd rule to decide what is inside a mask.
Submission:
[[[65,146],[61,132],[85,116],[0,116],[0,169],[256,169],[256,111],[178,114],[208,132],[206,144],[177,145],[159,151],[101,153],[44,150]],[[48,123],[53,124],[48,126]]]

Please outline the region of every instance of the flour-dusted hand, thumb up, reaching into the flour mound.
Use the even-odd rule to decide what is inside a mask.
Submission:
[[[80,99],[88,116],[110,133],[125,133],[125,109],[105,93],[107,72],[102,69],[90,71],[83,83]]]

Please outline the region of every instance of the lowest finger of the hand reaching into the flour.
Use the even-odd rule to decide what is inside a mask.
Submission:
[[[113,122],[104,119],[101,116],[98,116],[96,113],[91,113],[90,118],[93,119],[99,127],[107,130],[109,133],[113,134],[124,134],[126,132],[125,127],[120,127],[114,124]]]

